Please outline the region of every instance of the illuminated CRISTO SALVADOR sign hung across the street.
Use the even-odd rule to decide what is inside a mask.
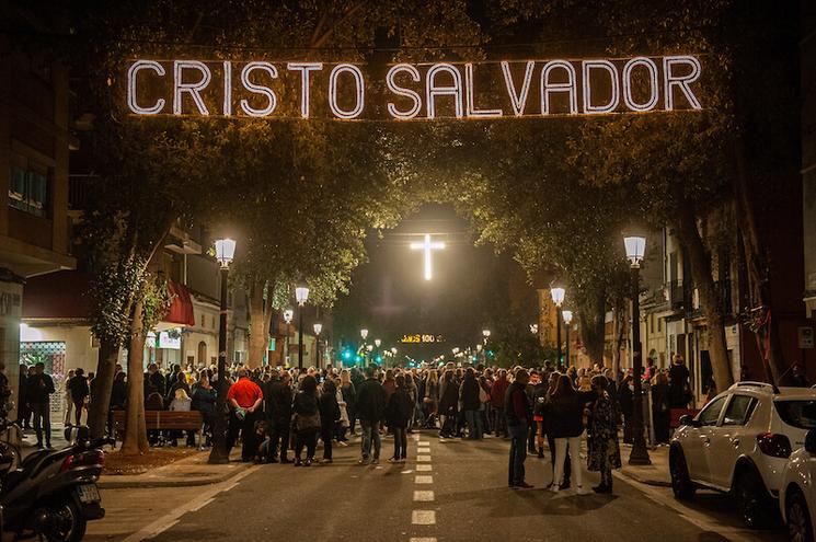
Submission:
[[[371,87],[364,68],[140,59],[127,70],[127,107],[142,116],[363,119]],[[368,109],[398,120],[696,111],[701,73],[691,55],[398,64],[386,73],[382,107]]]

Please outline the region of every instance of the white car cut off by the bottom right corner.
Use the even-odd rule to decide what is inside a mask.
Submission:
[[[782,476],[779,508],[792,542],[813,542],[816,526],[816,429],[807,431],[805,447],[791,454]]]

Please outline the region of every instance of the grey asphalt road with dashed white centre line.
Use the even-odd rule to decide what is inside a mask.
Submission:
[[[784,540],[779,529],[743,529],[725,496],[702,493],[687,507],[668,488],[620,477],[612,496],[554,495],[543,489],[549,458],[533,457],[527,472],[536,488],[514,491],[506,486],[506,441],[418,437],[410,440],[404,465],[359,466],[358,448],[350,446],[335,451],[330,465],[261,465],[218,486],[107,491],[108,517],[89,528],[87,540]],[[383,445],[386,459],[392,441]],[[586,476],[597,484],[595,474]]]

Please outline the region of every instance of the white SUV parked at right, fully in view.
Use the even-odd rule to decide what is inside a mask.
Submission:
[[[746,526],[760,528],[773,520],[788,458],[816,427],[816,390],[737,382],[680,424],[669,448],[675,497],[731,492]]]

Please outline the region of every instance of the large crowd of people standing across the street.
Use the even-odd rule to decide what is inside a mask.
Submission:
[[[691,401],[689,372],[676,356],[669,369],[650,364],[643,382],[651,394],[655,439],[669,438],[670,408],[685,408]],[[127,376],[117,366],[111,411],[127,403]],[[530,487],[525,480],[525,458],[544,457],[551,450],[553,483],[558,492],[583,486],[578,450],[586,438],[587,466],[598,471],[601,483],[594,489],[609,493],[611,471],[620,466],[618,429],[623,442],[632,440],[633,376],[612,374],[595,367],[559,370],[549,361],[539,368],[499,369],[483,365],[381,369],[249,369],[231,366],[226,374],[228,394],[225,416],[227,447],[241,445],[243,461],[294,463],[309,466],[317,461],[322,442],[322,462],[332,462],[335,446],[348,446],[359,426],[360,464],[380,462],[382,437],[393,437],[388,461],[407,458],[407,434],[423,428],[438,430],[440,441],[481,440],[504,437],[510,441],[508,485]],[[65,381],[66,424],[81,422],[93,388],[93,374],[69,371]],[[195,431],[187,446],[212,445],[212,428],[219,415],[218,373],[215,367],[169,370],[150,364],[143,374],[145,407],[198,411],[204,419],[203,441]],[[38,446],[50,446],[48,396],[54,381],[43,364],[21,366],[21,415],[23,427],[33,417]],[[585,437],[584,437],[585,436]],[[149,431],[152,446],[177,446],[179,431]],[[291,459],[289,455],[291,453]]]

